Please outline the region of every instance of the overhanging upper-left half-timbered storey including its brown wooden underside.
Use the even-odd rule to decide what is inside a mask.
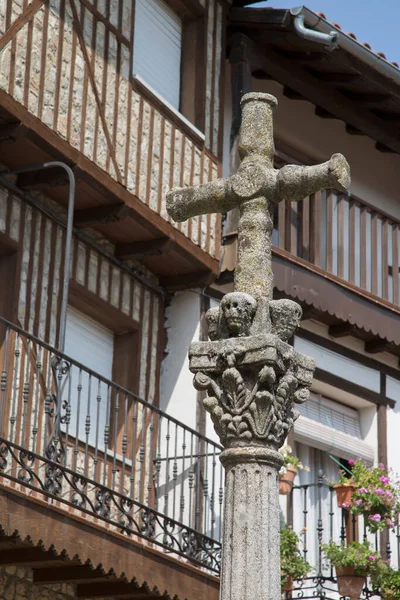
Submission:
[[[223,2],[208,3],[208,13],[193,4],[208,36],[205,138],[132,76],[131,2],[8,2],[0,14],[0,162],[65,161],[77,178],[76,226],[106,236],[121,260],[139,259],[170,287],[218,271],[220,216],[178,225],[165,208],[170,187],[215,179],[220,168]],[[60,173],[13,183],[67,204]]]

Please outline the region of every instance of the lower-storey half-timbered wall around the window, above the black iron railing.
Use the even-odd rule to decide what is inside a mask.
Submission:
[[[17,248],[18,324],[56,346],[65,229],[17,195],[0,188],[1,233]],[[149,402],[158,400],[159,324],[163,313],[160,295],[77,238],[73,240],[71,286],[75,296],[82,295],[82,302],[85,294],[92,294],[94,301],[97,298],[102,302],[102,309],[113,311],[117,318],[120,315],[128,327],[131,321],[132,330],[139,330],[137,393]]]

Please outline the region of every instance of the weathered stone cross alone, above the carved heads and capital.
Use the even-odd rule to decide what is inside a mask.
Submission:
[[[245,94],[241,100],[239,134],[241,164],[236,174],[197,187],[175,188],[167,194],[167,211],[175,221],[238,207],[238,257],[235,290],[272,299],[271,245],[274,207],[284,199],[303,200],[320,190],[344,191],[350,184],[349,165],[341,154],[320,165],[273,168],[270,94]]]

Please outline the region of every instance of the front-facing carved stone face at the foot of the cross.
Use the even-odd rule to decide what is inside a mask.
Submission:
[[[232,337],[250,335],[250,327],[257,310],[257,302],[250,294],[232,292],[221,300],[221,309]]]

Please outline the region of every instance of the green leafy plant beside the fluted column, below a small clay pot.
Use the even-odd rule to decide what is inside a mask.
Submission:
[[[293,589],[293,581],[304,579],[311,566],[300,550],[300,539],[290,527],[281,528],[281,586],[282,591]]]

